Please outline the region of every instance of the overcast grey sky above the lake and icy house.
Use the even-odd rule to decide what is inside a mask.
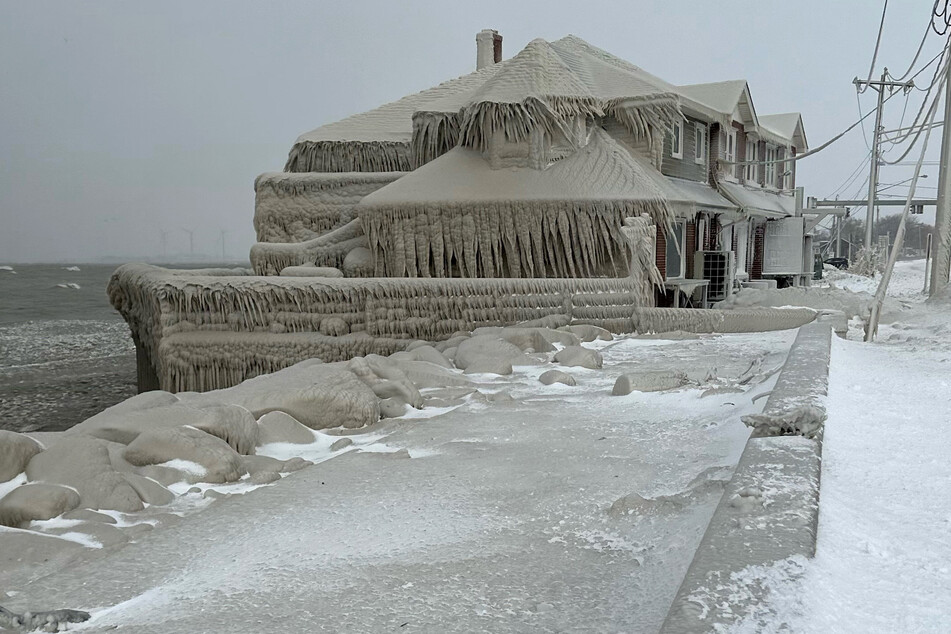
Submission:
[[[905,70],[931,4],[890,2],[876,73]],[[183,228],[204,253],[225,230],[227,255],[246,258],[257,174],[281,170],[303,132],[472,71],[483,28],[506,58],[574,33],[675,84],[745,78],[758,113],[802,112],[817,146],[858,117],[851,82],[880,15],[877,0],[0,0],[0,263],[154,258],[163,230],[170,255],[187,253]],[[932,36],[919,64],[939,48]],[[904,105],[888,104],[886,128]],[[799,184],[827,196],[867,154],[856,130],[800,163]]]

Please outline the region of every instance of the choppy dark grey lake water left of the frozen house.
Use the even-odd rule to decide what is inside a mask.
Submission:
[[[0,429],[68,429],[133,396],[135,347],[106,295],[118,265],[9,266],[0,269]]]

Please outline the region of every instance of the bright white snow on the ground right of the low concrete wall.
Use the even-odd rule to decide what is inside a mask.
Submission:
[[[951,631],[951,304],[924,303],[923,275],[898,263],[889,294],[911,307],[876,343],[833,339],[816,556],[746,571],[770,589],[766,631]]]

